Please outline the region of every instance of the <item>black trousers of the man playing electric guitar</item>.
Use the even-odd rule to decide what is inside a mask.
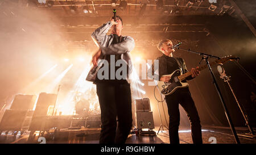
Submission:
[[[195,103],[188,88],[177,89],[174,94],[166,96],[169,114],[169,137],[171,144],[179,144],[180,111],[179,104],[184,108],[191,124],[191,135],[194,144],[203,143],[201,124]]]

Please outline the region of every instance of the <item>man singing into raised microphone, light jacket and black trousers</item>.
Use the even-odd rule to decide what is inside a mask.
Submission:
[[[129,70],[132,68],[131,63],[129,63],[129,52],[133,50],[135,43],[132,37],[121,35],[122,28],[122,18],[120,16],[115,18],[114,12],[114,16],[109,22],[103,24],[92,33],[93,40],[100,47],[92,57],[93,65],[98,65],[99,58],[108,61],[109,65],[107,66],[109,74],[104,72],[104,74],[108,74],[108,78],[99,78],[102,75],[97,74],[94,79],[101,108],[100,144],[125,144],[132,126],[131,90],[130,83],[127,80],[130,73]],[[111,34],[106,35],[109,29],[111,29]],[[126,79],[118,79],[111,75],[112,69],[110,68],[112,66],[114,66],[113,74],[123,67],[122,65],[118,67],[111,64],[115,64],[119,60],[124,61],[127,65],[125,66],[128,68],[127,72],[122,73],[126,75]],[[101,66],[101,68],[103,67]],[[89,77],[93,76],[89,75]]]

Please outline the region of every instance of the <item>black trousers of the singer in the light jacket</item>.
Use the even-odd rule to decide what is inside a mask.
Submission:
[[[125,144],[132,127],[129,83],[97,83],[101,108],[100,144]]]

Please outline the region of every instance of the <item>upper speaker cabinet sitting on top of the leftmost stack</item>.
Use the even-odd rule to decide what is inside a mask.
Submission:
[[[14,110],[32,110],[35,104],[36,95],[22,95],[15,96],[10,109]]]

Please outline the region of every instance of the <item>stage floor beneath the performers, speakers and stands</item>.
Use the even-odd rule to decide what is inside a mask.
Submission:
[[[155,127],[154,131],[157,133],[159,127]],[[247,128],[237,127],[236,131],[238,135],[246,135]],[[235,144],[232,132],[228,127],[213,127],[204,126],[202,128],[203,143],[209,144],[216,142],[217,144]],[[33,140],[28,141],[29,132],[23,133],[23,135],[2,135],[0,136],[0,143],[39,143],[37,134]],[[53,136],[53,134],[51,135]],[[100,136],[100,128],[90,129],[61,129],[54,134],[53,137],[46,137],[47,144],[98,144]],[[191,129],[180,127],[179,129],[180,144],[192,144]],[[256,137],[238,136],[242,144],[256,144]],[[129,135],[126,144],[168,144],[169,136],[168,130],[164,128],[164,131],[160,130],[156,136],[142,136],[142,135]]]

